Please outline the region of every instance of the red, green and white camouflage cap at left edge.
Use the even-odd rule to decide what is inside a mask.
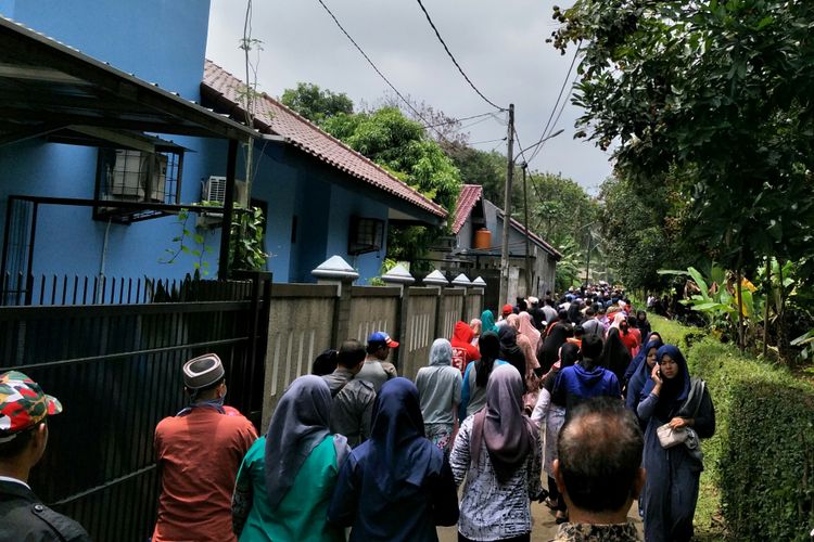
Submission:
[[[39,384],[20,371],[0,375],[0,443],[62,412],[56,398],[46,395]]]

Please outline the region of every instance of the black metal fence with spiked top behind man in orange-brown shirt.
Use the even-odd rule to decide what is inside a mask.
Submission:
[[[40,283],[59,283],[56,297],[37,298],[47,305],[0,307],[0,373],[25,372],[64,406],[49,422],[35,492],[94,540],[143,541],[158,492],[153,431],[185,405],[182,363],[217,352],[227,403],[259,422],[270,280],[105,282],[97,295],[118,305],[89,304],[92,281],[63,279]]]

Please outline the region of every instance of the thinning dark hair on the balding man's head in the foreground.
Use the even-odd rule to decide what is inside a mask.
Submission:
[[[618,512],[635,496],[644,449],[632,411],[613,397],[584,401],[567,417],[557,455],[565,491],[574,506]]]

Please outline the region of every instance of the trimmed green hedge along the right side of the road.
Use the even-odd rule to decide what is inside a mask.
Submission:
[[[699,340],[698,330],[661,319],[653,328],[682,347],[690,373],[707,380],[715,404],[715,436],[703,442],[699,538],[809,541],[814,388],[730,345]]]

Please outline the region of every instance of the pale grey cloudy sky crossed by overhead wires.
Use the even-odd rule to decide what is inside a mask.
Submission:
[[[463,80],[444,52],[416,0],[323,0],[348,34],[403,93],[456,118],[495,109]],[[545,42],[556,28],[554,2],[532,0],[422,0],[442,37],[475,86],[498,105],[514,104],[523,146],[542,136],[565,78],[571,55]],[[562,2],[564,5],[567,2]],[[354,103],[376,104],[389,91],[317,0],[255,0],[253,37],[263,41],[260,90],[279,96],[297,81],[345,92]],[[242,78],[245,0],[212,0],[207,56]],[[578,109],[570,103],[531,163],[561,172],[595,193],[610,175],[608,155],[574,140]],[[482,117],[465,129],[470,142],[506,136],[506,115]],[[470,125],[475,120],[465,121]],[[497,145],[497,146],[496,146]],[[473,146],[506,153],[506,143]],[[516,145],[517,150],[517,145]],[[526,153],[530,156],[531,153]]]

